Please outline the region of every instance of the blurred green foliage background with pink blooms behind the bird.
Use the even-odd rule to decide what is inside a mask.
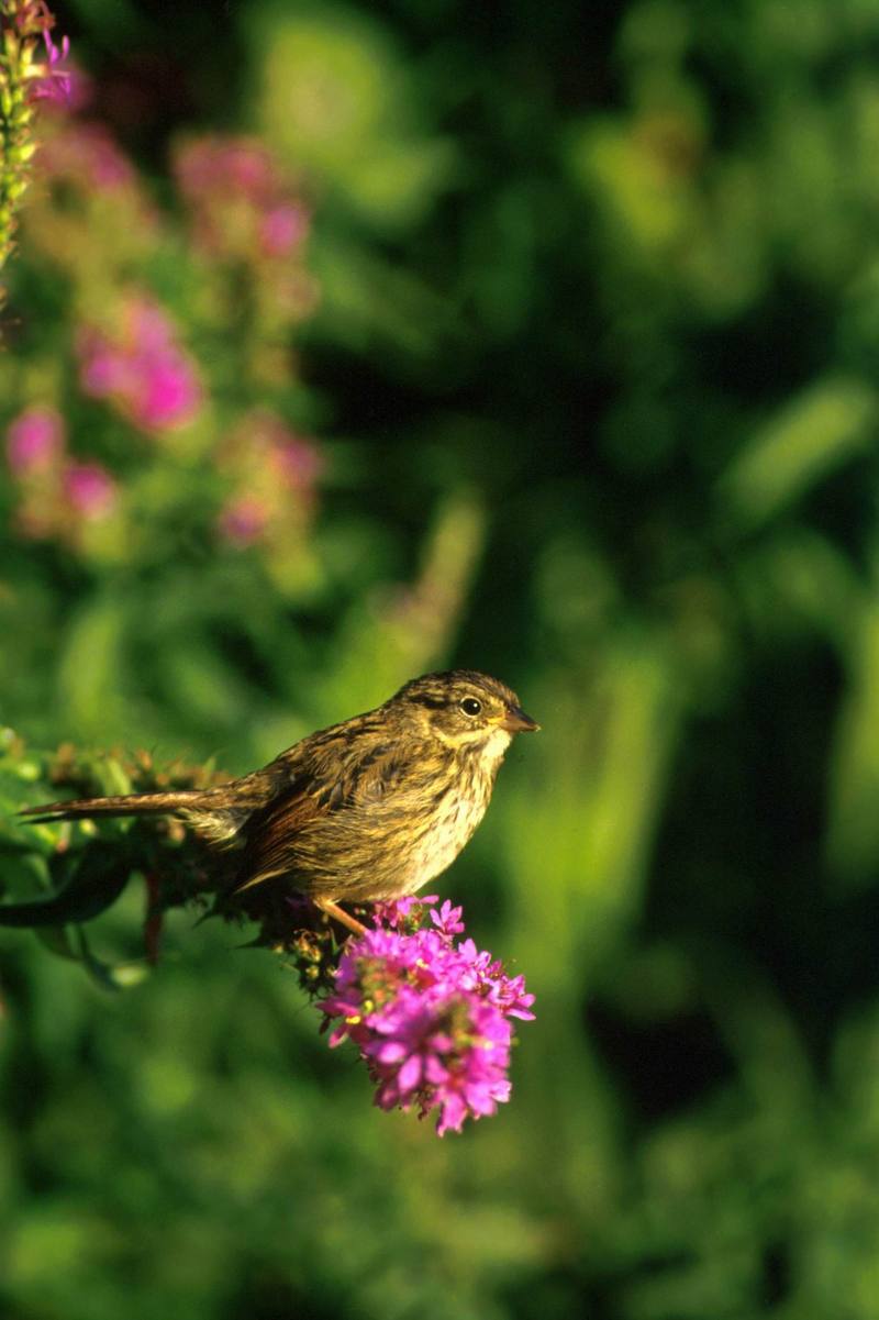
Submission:
[[[438,888],[538,1019],[438,1140],[227,929],[5,932],[0,1309],[875,1320],[879,4],[58,18],[3,721],[243,771],[499,675]]]

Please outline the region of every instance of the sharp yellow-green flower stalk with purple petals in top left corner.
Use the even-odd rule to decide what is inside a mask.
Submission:
[[[21,198],[37,140],[36,103],[63,100],[70,74],[58,67],[70,42],[51,40],[54,17],[44,0],[0,0],[0,269],[13,249]],[[0,302],[4,290],[0,288]]]

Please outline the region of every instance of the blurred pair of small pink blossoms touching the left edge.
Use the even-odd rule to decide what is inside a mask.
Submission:
[[[110,473],[67,455],[65,421],[54,408],[34,405],[18,413],[7,430],[7,461],[21,490],[17,523],[25,536],[69,533],[116,507]]]

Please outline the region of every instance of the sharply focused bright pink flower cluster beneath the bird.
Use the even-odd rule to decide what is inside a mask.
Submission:
[[[330,1044],[358,1045],[376,1105],[437,1110],[442,1137],[509,1100],[511,1019],[532,1019],[535,997],[472,940],[455,940],[462,909],[436,902],[377,904],[376,928],[348,940],[318,1007],[327,1026],[341,1019]]]

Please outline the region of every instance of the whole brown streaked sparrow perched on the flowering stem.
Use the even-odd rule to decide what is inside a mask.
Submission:
[[[428,673],[218,788],[49,803],[22,814],[178,816],[240,851],[232,895],[284,879],[362,933],[339,900],[399,899],[445,871],[484,816],[513,734],[538,727],[498,678]]]

